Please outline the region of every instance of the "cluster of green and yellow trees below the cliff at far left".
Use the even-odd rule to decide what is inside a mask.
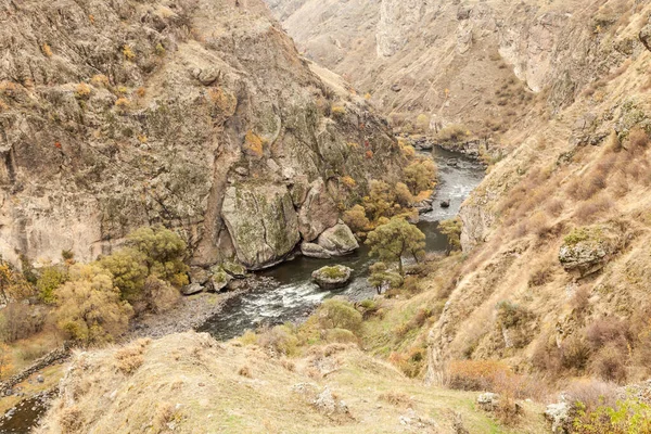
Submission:
[[[133,315],[162,311],[178,301],[178,289],[188,284],[186,253],[186,242],[177,233],[157,226],[136,230],[123,248],[90,264],[75,264],[66,253],[64,264],[28,269],[21,277],[2,263],[0,291],[5,299],[14,301],[2,311],[3,340],[26,337],[13,333],[12,324],[20,322],[21,330],[38,332],[46,321],[51,321],[78,345],[112,342],[127,331]],[[48,311],[47,318],[39,317],[38,324],[31,324],[36,317],[18,308],[29,308],[20,302],[24,298],[50,306],[41,308]],[[24,315],[12,315],[14,310]],[[29,318],[31,322],[16,322],[18,318]]]

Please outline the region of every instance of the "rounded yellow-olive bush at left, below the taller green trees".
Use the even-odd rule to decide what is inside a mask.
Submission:
[[[126,332],[131,314],[111,275],[97,265],[74,265],[69,281],[56,290],[56,324],[81,345],[113,342]]]

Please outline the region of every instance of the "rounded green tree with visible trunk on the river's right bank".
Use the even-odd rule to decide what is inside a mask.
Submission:
[[[425,234],[407,220],[394,217],[386,225],[379,226],[370,232],[367,245],[371,247],[370,255],[378,256],[380,260],[397,263],[398,271],[405,276],[403,256],[411,253],[418,257],[424,254]]]

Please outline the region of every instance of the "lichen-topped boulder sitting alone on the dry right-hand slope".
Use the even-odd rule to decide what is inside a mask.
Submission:
[[[583,278],[601,270],[620,247],[620,233],[607,226],[577,228],[565,237],[559,260],[565,271]]]

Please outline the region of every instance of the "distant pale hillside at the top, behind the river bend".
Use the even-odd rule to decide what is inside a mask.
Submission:
[[[639,3],[639,2],[638,2]],[[505,132],[535,95],[557,110],[630,54],[595,55],[622,1],[268,1],[289,34],[397,126]],[[419,119],[420,116],[420,119]],[[427,128],[424,128],[426,131]]]

